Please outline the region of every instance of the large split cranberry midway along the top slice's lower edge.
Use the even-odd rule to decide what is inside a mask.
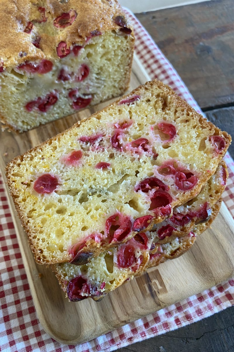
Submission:
[[[131,232],[132,221],[129,216],[118,212],[106,220],[105,230],[109,242],[122,241]]]

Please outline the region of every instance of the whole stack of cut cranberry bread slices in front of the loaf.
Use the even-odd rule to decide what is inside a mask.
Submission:
[[[155,80],[16,157],[8,186],[36,262],[76,301],[178,256],[217,215],[230,141]]]

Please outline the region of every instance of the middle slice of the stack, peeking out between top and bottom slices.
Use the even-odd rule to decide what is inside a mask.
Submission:
[[[196,224],[208,221],[212,206],[220,199],[226,187],[227,177],[227,165],[221,160],[215,174],[195,198],[175,207],[171,218],[153,226],[151,231],[155,232],[158,243],[171,242],[174,238],[187,234]]]

